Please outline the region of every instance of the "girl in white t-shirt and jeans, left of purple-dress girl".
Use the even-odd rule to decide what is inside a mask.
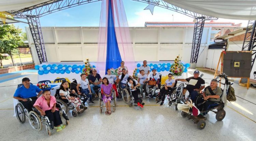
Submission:
[[[79,87],[82,87],[82,89],[81,89],[81,92],[79,91]],[[77,93],[79,94],[79,95],[81,95],[82,93],[83,94],[86,94],[86,96],[89,98],[85,98],[84,100],[83,100],[83,104],[85,104],[85,102],[87,101],[87,100],[89,100],[89,104],[94,104],[94,102],[93,102],[93,99],[92,99],[92,95],[91,95],[91,88],[90,88],[90,85],[89,85],[89,81],[88,81],[88,79],[86,79],[86,75],[85,74],[81,74],[81,80],[80,80],[80,82],[77,84],[77,86],[76,86],[76,90],[77,90]]]

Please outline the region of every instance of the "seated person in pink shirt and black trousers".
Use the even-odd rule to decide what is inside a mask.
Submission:
[[[51,96],[49,90],[45,90],[43,96],[38,98],[33,106],[40,112],[41,116],[47,116],[49,121],[53,121],[57,132],[66,127],[66,125],[61,125],[62,121],[59,109],[56,108],[56,99],[54,96]]]

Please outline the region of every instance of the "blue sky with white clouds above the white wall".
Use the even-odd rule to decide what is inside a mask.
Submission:
[[[147,21],[157,22],[192,22],[193,18],[186,15],[155,6],[154,14],[150,10],[144,10],[146,3],[123,0],[129,27],[144,27]],[[101,1],[88,3],[66,10],[58,11],[40,18],[41,27],[99,27]],[[242,23],[246,27],[247,20],[218,19],[216,22]],[[207,22],[207,21],[206,21]],[[15,23],[16,27],[23,29],[28,27],[26,23]]]

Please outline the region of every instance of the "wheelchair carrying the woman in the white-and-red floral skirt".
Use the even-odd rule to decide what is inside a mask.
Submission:
[[[73,103],[70,103],[68,99],[62,99],[61,97],[66,98],[66,96],[61,96],[59,94],[59,91],[60,89],[57,89],[55,93],[56,102],[60,104],[60,107],[65,111],[65,113],[68,112],[69,110],[72,110],[72,116],[76,117],[77,114],[81,114],[84,112],[84,111],[78,112],[76,110],[76,106]],[[70,96],[74,96],[77,98],[79,97],[77,93],[71,93]],[[85,108],[83,103],[82,105],[80,105],[80,108]]]

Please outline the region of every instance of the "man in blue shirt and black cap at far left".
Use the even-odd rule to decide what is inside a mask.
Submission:
[[[23,86],[16,89],[13,98],[19,100],[24,108],[30,112],[32,111],[33,105],[27,99],[32,99],[32,101],[37,100],[37,98],[42,94],[43,90],[35,85],[30,84],[30,80],[27,77],[22,79],[22,84]]]

